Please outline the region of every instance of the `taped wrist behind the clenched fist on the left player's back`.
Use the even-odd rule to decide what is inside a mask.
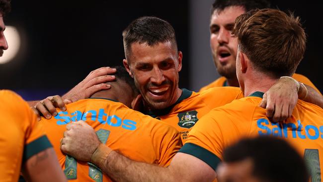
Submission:
[[[90,158],[90,162],[95,164],[98,168],[102,169],[105,160],[107,159],[107,157],[111,152],[112,152],[111,148],[100,143],[99,146],[93,152]]]

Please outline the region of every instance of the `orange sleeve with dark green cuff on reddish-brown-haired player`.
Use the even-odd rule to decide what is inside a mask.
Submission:
[[[203,116],[192,128],[179,152],[197,157],[216,170],[225,147],[241,136],[241,130],[246,131],[234,119],[237,114],[232,113],[234,110],[230,110],[230,107],[234,107],[234,104],[214,109]]]

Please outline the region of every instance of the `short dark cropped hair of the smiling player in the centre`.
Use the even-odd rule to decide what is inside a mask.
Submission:
[[[165,20],[153,16],[143,16],[132,21],[122,32],[125,56],[128,59],[131,44],[146,43],[154,46],[158,43],[171,42],[177,51],[177,42],[173,27]]]

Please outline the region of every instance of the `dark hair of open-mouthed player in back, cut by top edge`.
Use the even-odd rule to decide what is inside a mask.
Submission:
[[[215,0],[211,7],[211,16],[215,10],[221,12],[230,6],[242,6],[247,12],[256,8],[270,8],[270,2],[268,0]]]

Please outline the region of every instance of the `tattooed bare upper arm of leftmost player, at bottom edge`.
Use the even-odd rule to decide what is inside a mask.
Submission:
[[[31,182],[66,182],[53,148],[31,156],[23,165],[23,175]]]

